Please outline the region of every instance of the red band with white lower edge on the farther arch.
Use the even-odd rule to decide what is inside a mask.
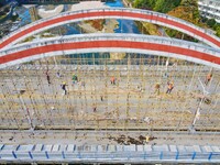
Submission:
[[[14,34],[13,36],[7,38],[6,41],[3,41],[2,43],[0,43],[0,48],[6,47],[8,44],[19,41],[19,38],[21,38],[22,36],[25,36],[28,34],[30,34],[31,32],[34,31],[41,31],[41,29],[46,28],[46,26],[52,26],[52,25],[57,25],[58,23],[62,22],[74,22],[75,21],[79,21],[79,20],[90,20],[90,19],[96,19],[96,16],[102,16],[102,18],[112,18],[112,16],[117,16],[117,18],[129,18],[131,20],[139,20],[139,19],[143,19],[146,21],[156,21],[156,22],[161,22],[167,25],[172,25],[175,26],[176,29],[182,29],[185,31],[188,31],[197,36],[200,36],[209,42],[211,42],[212,44],[215,44],[216,46],[220,47],[220,41],[210,36],[209,34],[202,33],[197,29],[194,29],[189,25],[179,23],[177,21],[174,20],[169,20],[163,16],[158,16],[158,15],[153,15],[150,13],[135,13],[135,12],[129,12],[129,11],[105,11],[105,10],[100,10],[100,11],[89,11],[89,12],[82,12],[82,13],[69,13],[69,15],[63,15],[61,18],[52,18],[51,20],[44,21],[42,23],[35,24],[33,26],[30,26],[26,30],[23,30],[16,34]],[[160,24],[160,23],[158,23]]]

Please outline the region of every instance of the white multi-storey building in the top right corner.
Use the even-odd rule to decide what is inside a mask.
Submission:
[[[220,0],[199,0],[198,6],[202,16],[220,23]]]

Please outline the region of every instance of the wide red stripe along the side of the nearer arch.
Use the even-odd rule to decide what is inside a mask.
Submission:
[[[178,46],[146,43],[146,42],[133,42],[133,41],[87,41],[87,42],[73,42],[73,43],[62,43],[52,44],[46,46],[38,46],[33,48],[28,48],[24,51],[9,53],[0,57],[0,65],[16,59],[22,59],[25,57],[32,57],[35,55],[41,55],[45,53],[53,53],[56,51],[77,51],[77,50],[89,50],[89,48],[136,48],[142,51],[157,51],[165,53],[174,53],[179,56],[194,57],[197,59],[210,62],[220,65],[220,58],[208,53],[183,48]],[[178,58],[178,56],[177,56]]]

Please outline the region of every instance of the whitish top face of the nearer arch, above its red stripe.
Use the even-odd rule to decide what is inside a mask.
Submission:
[[[53,45],[53,44],[62,44],[62,43],[77,43],[77,42],[86,42],[86,41],[133,41],[133,42],[147,42],[147,43],[157,43],[163,45],[175,45],[178,47],[194,50],[198,52],[208,53],[211,55],[216,55],[220,57],[220,50],[208,47],[197,43],[190,43],[182,40],[175,40],[169,37],[161,37],[161,36],[148,36],[148,35],[138,35],[138,34],[105,34],[105,33],[94,33],[94,34],[77,34],[77,35],[68,35],[63,37],[53,37],[53,38],[42,38],[40,41],[23,43],[20,45],[15,45],[12,48],[7,48],[0,51],[0,56],[4,56],[7,54],[25,51],[29,48]]]

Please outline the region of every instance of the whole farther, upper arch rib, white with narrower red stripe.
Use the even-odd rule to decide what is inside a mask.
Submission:
[[[219,47],[220,38],[209,33],[207,30],[198,28],[193,23],[184,20],[146,10],[138,9],[123,9],[123,8],[106,8],[96,10],[81,10],[74,12],[64,12],[50,19],[42,19],[29,25],[20,28],[19,30],[10,33],[0,41],[0,48],[11,46],[21,42],[22,40],[48,30],[54,26],[67,24],[72,22],[94,20],[94,19],[128,19],[143,22],[151,22],[163,26],[172,28],[174,30],[186,33],[210,46]]]

